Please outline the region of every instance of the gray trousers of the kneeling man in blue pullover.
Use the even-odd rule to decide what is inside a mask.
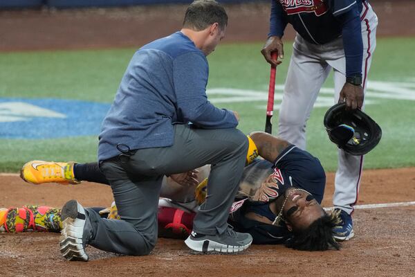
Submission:
[[[174,144],[137,150],[129,160],[103,161],[121,220],[106,220],[86,209],[92,226],[87,243],[104,251],[147,255],[156,244],[158,197],[163,175],[212,164],[208,196],[194,218],[196,233],[223,233],[239,188],[248,139],[238,129],[195,129],[174,126]]]

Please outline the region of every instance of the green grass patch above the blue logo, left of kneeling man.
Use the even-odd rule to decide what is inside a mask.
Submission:
[[[111,102],[133,49],[2,53],[0,97]],[[6,67],[3,67],[6,66]]]

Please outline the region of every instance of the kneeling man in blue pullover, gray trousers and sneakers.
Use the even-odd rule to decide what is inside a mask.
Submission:
[[[85,245],[125,255],[147,255],[157,239],[158,197],[164,175],[188,176],[212,164],[209,195],[186,244],[194,251],[243,251],[251,235],[228,227],[248,139],[236,112],[206,96],[208,61],[225,35],[228,16],[214,0],[194,1],[183,28],[142,46],[132,57],[102,123],[100,170],[108,179],[121,220],[102,219],[71,200],[62,207],[60,251],[88,260]],[[185,172],[183,175],[180,172]]]

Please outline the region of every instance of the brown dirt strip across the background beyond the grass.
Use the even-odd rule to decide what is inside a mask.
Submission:
[[[372,0],[378,37],[413,36],[415,1]],[[142,6],[87,10],[0,11],[0,51],[138,47],[181,27],[186,6]],[[226,6],[224,42],[264,42],[270,5],[266,1]],[[288,26],[286,39],[292,39]]]

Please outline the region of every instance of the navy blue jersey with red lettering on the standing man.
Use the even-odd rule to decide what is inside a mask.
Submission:
[[[308,42],[325,44],[362,11],[364,0],[273,0],[269,36],[282,37],[287,23]]]

